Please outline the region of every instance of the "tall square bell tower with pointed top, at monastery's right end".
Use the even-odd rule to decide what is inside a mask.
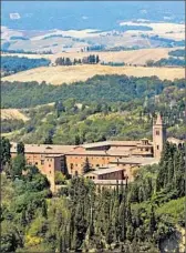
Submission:
[[[153,149],[154,158],[161,159],[161,154],[166,142],[166,128],[162,117],[158,113],[156,121],[153,123]]]

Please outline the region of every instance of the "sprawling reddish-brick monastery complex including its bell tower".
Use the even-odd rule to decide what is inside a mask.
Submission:
[[[124,179],[121,179],[121,172],[110,173],[110,169],[105,169],[107,174],[103,176],[104,179],[97,176],[97,171],[101,168],[110,168],[111,164],[120,168],[122,174],[127,175],[131,181],[133,172],[141,165],[156,163],[159,160],[166,141],[165,130],[162,118],[158,115],[153,125],[153,142],[142,139],[140,141],[104,141],[82,145],[25,144],[24,153],[27,163],[37,165],[46,175],[52,191],[55,191],[55,171],[72,176],[82,175],[86,161],[89,161],[90,168],[95,170],[92,172],[92,176],[96,178],[95,181]],[[11,154],[12,156],[17,154],[16,143],[12,143]]]

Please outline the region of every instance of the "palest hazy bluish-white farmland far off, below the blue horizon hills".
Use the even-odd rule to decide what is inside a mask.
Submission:
[[[38,51],[43,52],[52,50],[52,52],[78,52],[91,44],[103,44],[107,48],[113,47],[134,47],[157,48],[162,45],[161,41],[154,41],[151,37],[173,39],[176,41],[185,39],[185,24],[170,22],[121,22],[120,26],[145,26],[152,28],[149,31],[127,30],[120,31],[115,34],[112,31],[97,31],[96,29],[69,30],[59,29],[50,31],[17,31],[2,27],[1,38],[3,42],[9,42],[9,50]],[[144,36],[147,36],[144,38]],[[25,37],[28,40],[11,40],[11,37]]]

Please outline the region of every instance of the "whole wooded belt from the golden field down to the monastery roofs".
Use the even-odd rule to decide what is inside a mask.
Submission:
[[[9,138],[27,143],[76,144],[112,139],[152,139],[153,118],[161,112],[168,136],[185,136],[184,80],[128,80],[116,75],[96,77],[76,85],[75,92],[75,84],[66,85],[66,89],[37,83],[2,84],[1,89],[6,89],[2,91],[2,104],[6,99],[13,108],[27,103],[32,105],[23,111],[29,121],[3,120],[2,132],[19,130]],[[53,101],[54,105],[33,108],[34,104]]]

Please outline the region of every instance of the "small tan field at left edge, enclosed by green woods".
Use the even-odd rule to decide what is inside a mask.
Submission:
[[[23,120],[25,122],[29,118],[18,109],[1,109],[1,120]]]

